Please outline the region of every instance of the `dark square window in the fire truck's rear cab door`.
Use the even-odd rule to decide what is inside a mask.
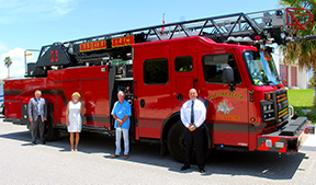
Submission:
[[[144,61],[144,82],[146,84],[166,84],[168,81],[169,69],[166,58]]]

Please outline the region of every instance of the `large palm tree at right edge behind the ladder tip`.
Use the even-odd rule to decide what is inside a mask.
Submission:
[[[316,0],[280,0],[280,5],[296,7],[308,9],[314,16],[316,15]],[[296,31],[294,34],[300,36],[316,35],[316,25],[314,24],[311,30]],[[286,65],[291,65],[294,61],[298,61],[300,68],[306,67],[313,69],[314,84],[316,82],[316,42],[300,42],[290,43],[287,46],[281,47],[284,55],[283,61]],[[314,105],[316,105],[316,95],[314,96]]]

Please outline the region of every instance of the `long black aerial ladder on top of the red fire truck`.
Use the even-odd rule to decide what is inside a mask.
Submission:
[[[301,37],[298,30],[309,30],[314,16],[307,9],[284,8],[252,13],[233,13],[150,27],[104,34],[43,46],[36,63],[29,63],[29,76],[46,77],[47,70],[76,66],[97,66],[132,59],[132,45],[180,37],[204,36],[216,43],[286,45],[315,41]]]

